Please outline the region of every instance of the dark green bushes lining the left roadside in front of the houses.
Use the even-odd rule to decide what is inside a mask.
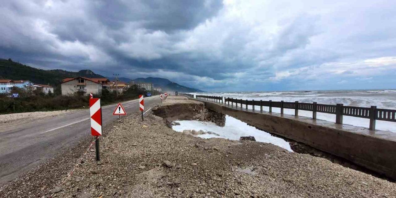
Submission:
[[[60,88],[59,88],[60,89]],[[11,97],[10,94],[0,94],[0,114],[22,113],[33,111],[50,111],[50,110],[67,110],[81,109],[89,107],[89,96],[86,95],[61,95],[60,90],[55,88],[55,93],[45,95],[41,91],[27,91],[25,89],[13,87],[11,93],[19,93],[18,98]],[[136,85],[131,86],[122,94],[110,92],[103,89],[101,95],[93,95],[93,97],[101,98],[101,104],[107,105],[111,103],[137,99],[140,94],[148,91],[139,89]],[[152,95],[158,95],[158,91],[151,92]]]

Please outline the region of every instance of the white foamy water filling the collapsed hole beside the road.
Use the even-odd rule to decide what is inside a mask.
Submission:
[[[194,129],[194,130],[212,131],[219,134],[219,136],[213,134],[197,135],[198,137],[202,137],[202,138],[216,137],[216,138],[239,140],[241,136],[251,135],[255,137],[256,141],[272,143],[279,147],[285,148],[289,151],[293,151],[291,150],[289,143],[287,143],[285,140],[278,137],[273,137],[271,136],[271,134],[265,131],[260,131],[252,126],[248,126],[246,123],[237,120],[235,118],[232,118],[231,116],[226,116],[226,122],[224,127],[219,127],[212,122],[201,122],[196,120],[181,120],[177,122],[179,122],[180,125],[172,127],[173,130],[175,131],[182,132],[183,130],[186,129],[189,130]]]

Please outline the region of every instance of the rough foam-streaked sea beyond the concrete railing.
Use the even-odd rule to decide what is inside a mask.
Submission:
[[[334,90],[334,91],[271,91],[271,92],[229,92],[229,93],[194,93],[196,95],[216,95],[243,100],[263,100],[263,101],[299,101],[301,103],[317,102],[319,104],[335,105],[342,103],[345,106],[370,107],[377,106],[381,109],[396,109],[396,90]],[[245,105],[243,105],[245,108]],[[249,109],[252,107],[249,105]],[[255,109],[260,109],[256,106]],[[263,110],[268,111],[268,107]],[[280,108],[272,108],[273,112],[280,113]],[[284,109],[285,114],[294,114],[293,109]],[[300,116],[312,117],[312,112],[299,110]],[[335,122],[334,114],[317,113],[317,118]],[[369,126],[369,119],[343,116],[344,124],[354,126]],[[191,128],[194,129],[194,128]],[[396,122],[376,121],[376,129],[396,132]]]

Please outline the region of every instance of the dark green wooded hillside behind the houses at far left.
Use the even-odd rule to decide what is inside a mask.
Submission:
[[[30,80],[37,84],[57,86],[65,78],[85,76],[88,78],[105,78],[91,70],[69,72],[61,69],[44,70],[23,65],[21,63],[0,59],[0,79]]]

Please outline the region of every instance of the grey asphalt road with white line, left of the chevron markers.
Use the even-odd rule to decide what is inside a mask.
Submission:
[[[158,103],[159,96],[145,98],[145,111]],[[112,115],[116,106],[102,107],[103,126],[117,119]],[[137,112],[139,99],[122,106],[127,114]],[[89,110],[20,125],[4,124],[0,127],[0,187],[90,134]]]

